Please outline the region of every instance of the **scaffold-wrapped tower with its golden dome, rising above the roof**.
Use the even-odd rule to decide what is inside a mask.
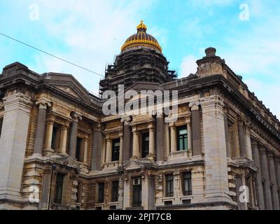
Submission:
[[[127,89],[137,82],[162,84],[176,78],[175,71],[168,69],[169,62],[162,55],[160,44],[146,31],[141,21],[137,33],[127,38],[120,55],[107,67],[105,78],[100,81],[101,94],[106,90],[118,92],[118,85]]]

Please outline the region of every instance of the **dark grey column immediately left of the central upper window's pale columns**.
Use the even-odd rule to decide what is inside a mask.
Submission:
[[[130,122],[131,117],[125,117],[121,119],[123,123],[123,162],[130,160]]]

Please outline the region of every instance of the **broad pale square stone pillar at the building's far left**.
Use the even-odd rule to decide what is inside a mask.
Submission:
[[[0,139],[1,209],[10,209],[10,204],[22,201],[22,170],[33,103],[31,97],[16,91],[8,92],[8,96],[3,98],[4,114]]]

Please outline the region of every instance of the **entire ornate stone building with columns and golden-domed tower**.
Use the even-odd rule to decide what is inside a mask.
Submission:
[[[3,68],[0,209],[279,210],[279,120],[216,49],[178,79],[146,30],[127,38],[101,94],[176,90],[176,120],[105,116],[70,74]]]

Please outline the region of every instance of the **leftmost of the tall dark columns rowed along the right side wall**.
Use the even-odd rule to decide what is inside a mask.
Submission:
[[[262,174],[260,172],[260,155],[258,153],[258,143],[256,141],[252,142],[252,148],[255,165],[258,167],[258,174],[256,180],[258,207],[260,210],[265,210],[265,199],[262,190]]]

